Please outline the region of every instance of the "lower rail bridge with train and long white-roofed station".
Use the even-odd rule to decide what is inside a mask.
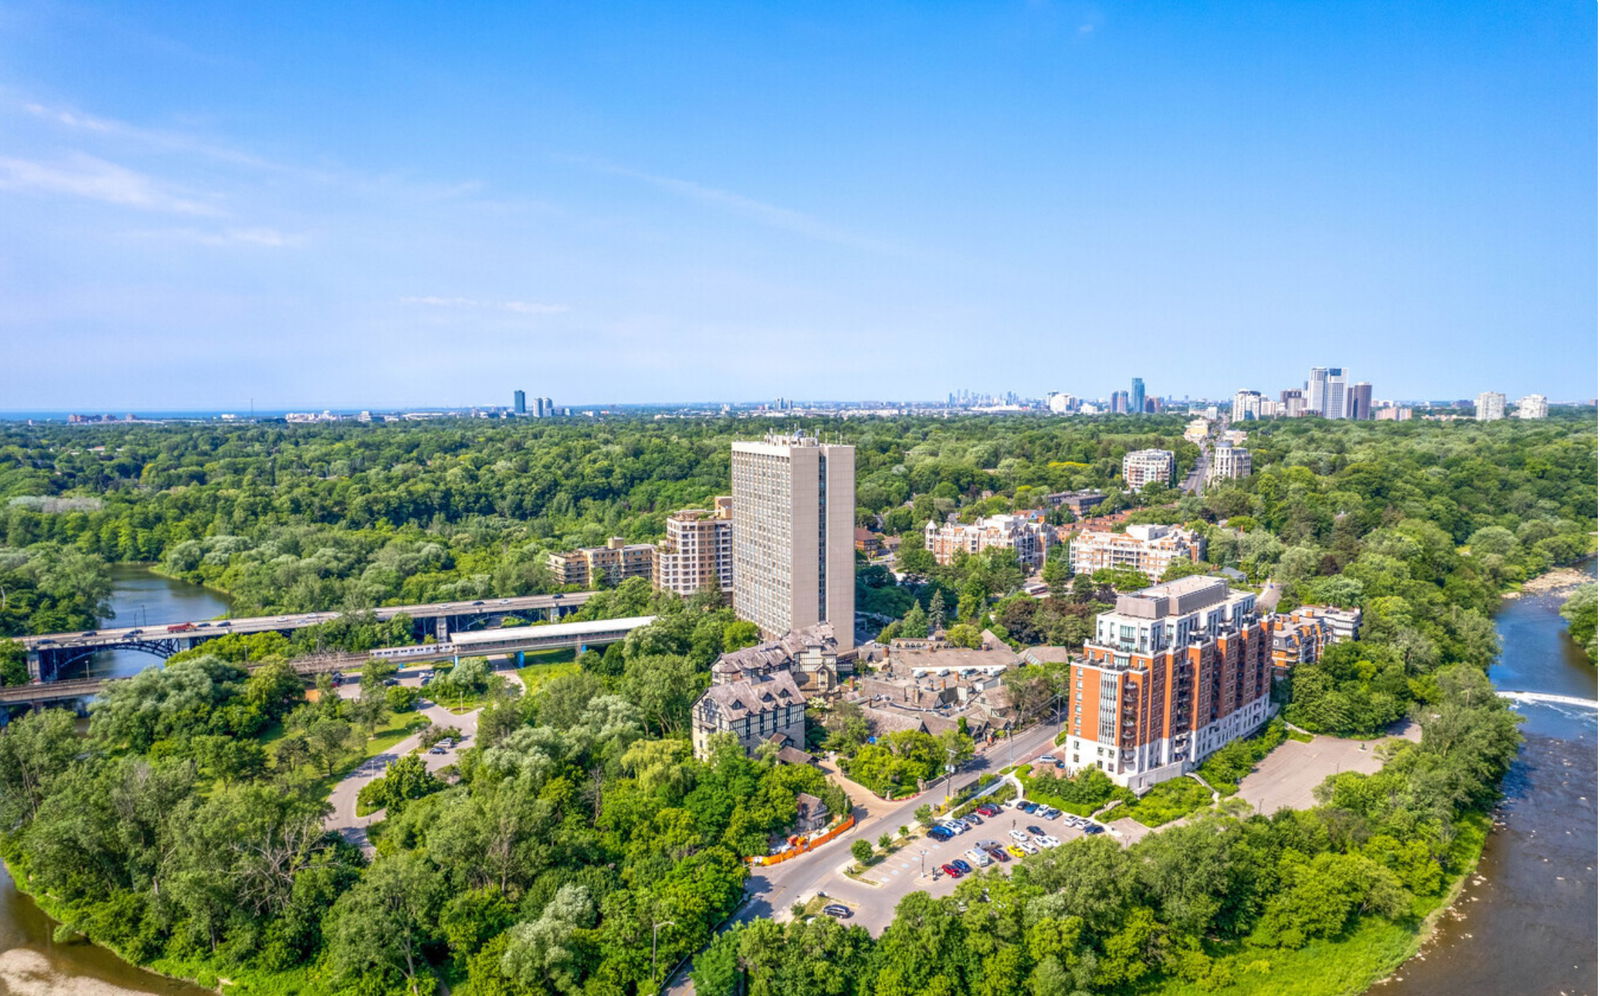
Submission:
[[[320,653],[315,657],[302,657],[290,663],[296,671],[306,676],[328,674],[346,669],[355,671],[374,660],[408,665],[438,660],[454,661],[462,657],[504,655],[512,657],[520,663],[523,653],[534,650],[573,649],[581,652],[587,647],[614,644],[627,637],[627,634],[634,629],[648,626],[653,621],[656,621],[656,616],[653,615],[635,615],[621,620],[507,626],[504,629],[458,633],[453,639],[440,644],[379,647],[363,653]],[[126,679],[83,677],[11,685],[8,689],[0,689],[0,709],[6,706],[67,705],[90,700],[99,695],[112,681]]]

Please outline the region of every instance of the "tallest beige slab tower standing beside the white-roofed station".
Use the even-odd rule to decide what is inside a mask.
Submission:
[[[771,639],[829,621],[856,645],[856,448],[733,444],[733,612]]]

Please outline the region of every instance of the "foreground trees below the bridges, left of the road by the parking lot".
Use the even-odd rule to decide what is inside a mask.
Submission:
[[[326,794],[413,690],[374,669],[357,698],[323,679],[304,701],[285,663],[203,649],[112,685],[86,738],[61,709],[0,735],[3,857],[66,930],[235,991],[419,993],[435,974],[480,996],[653,991],[797,793],[848,807],[818,769],[731,738],[691,756],[688,708],[747,625],[638,581],[608,596],[661,618],[493,695],[445,778],[390,767],[363,791],[386,805],[371,861],[323,831]]]

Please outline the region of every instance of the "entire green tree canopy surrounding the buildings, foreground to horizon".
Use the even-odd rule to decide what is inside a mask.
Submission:
[[[914,894],[877,940],[826,918],[717,935],[696,961],[701,993],[1210,991],[1262,964],[1314,974],[1338,962],[1333,942],[1403,946],[1474,860],[1517,749],[1485,677],[1499,594],[1594,549],[1592,420],[1248,424],[1251,477],[1202,496],[1122,493],[1130,448],[1194,461],[1181,428],[851,423],[858,520],[902,536],[901,578],[861,567],[862,608],[901,633],[939,620],[963,641],[989,628],[1018,645],[1080,644],[1136,578],[1070,576],[1058,551],[1050,592],[1032,597],[1014,557],[941,567],[920,528],[1101,487],[1131,522],[1205,533],[1206,562],[1174,573],[1230,567],[1278,584],[1283,605],[1360,607],[1362,639],[1298,669],[1285,716],[1370,735],[1410,714],[1421,743],[1376,775],[1331,778],[1309,812],[1224,802],[1134,847],[1075,842],[950,898]],[[374,604],[546,591],[550,549],[658,538],[667,512],[726,492],[726,444],[752,431],[13,426],[0,431],[0,586],[16,600],[0,621],[82,625],[106,562],[149,560],[227,589],[242,612],[349,610],[341,639],[376,639],[360,621]],[[270,666],[246,676],[240,663],[294,652],[274,641],[218,642],[125,682],[86,741],[59,713],[14,722],[0,735],[0,845],[70,929],[251,991],[405,991],[435,972],[467,996],[648,991],[712,938],[741,857],[794,820],[797,791],[842,802],[814,770],[726,745],[694,761],[688,706],[715,655],[754,636],[714,599],[642,581],[582,610],[643,612],[662,618],[533,693],[493,693],[448,780],[386,780],[373,860],[318,833],[326,780],[406,703],[379,682],[306,703]],[[818,735],[848,743],[862,778],[915,777],[891,751],[859,749],[859,730]],[[910,764],[922,746],[906,746]]]

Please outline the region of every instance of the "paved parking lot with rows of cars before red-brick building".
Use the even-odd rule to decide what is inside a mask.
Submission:
[[[845,874],[845,869],[853,866],[854,861],[845,861],[838,866],[838,873],[822,884],[822,892],[829,900],[851,908],[854,916],[848,922],[859,924],[872,934],[878,934],[894,919],[894,906],[906,895],[917,890],[933,897],[955,892],[955,886],[966,876],[962,874],[960,879],[952,879],[941,871],[944,865],[963,860],[973,865],[973,871],[998,869],[1002,873],[1008,873],[1016,866],[1018,858],[1011,853],[1003,861],[990,858],[987,866],[979,866],[966,853],[978,847],[979,841],[994,841],[1002,845],[1016,845],[1021,849],[1021,842],[1013,839],[1011,831],[1027,834],[1029,826],[1037,826],[1046,836],[1058,839],[1059,847],[1066,847],[1086,836],[1083,829],[1070,826],[1066,815],[1046,820],[1043,812],[1030,815],[1016,809],[1014,802],[1005,804],[1000,809],[1000,815],[979,815],[979,820],[982,823],[966,833],[955,834],[949,841],[938,841],[928,836],[914,837],[909,844],[901,845],[899,850],[856,878]],[[1106,833],[1115,839],[1115,831],[1107,829]],[[1042,850],[1038,844],[1030,845],[1035,852]]]

